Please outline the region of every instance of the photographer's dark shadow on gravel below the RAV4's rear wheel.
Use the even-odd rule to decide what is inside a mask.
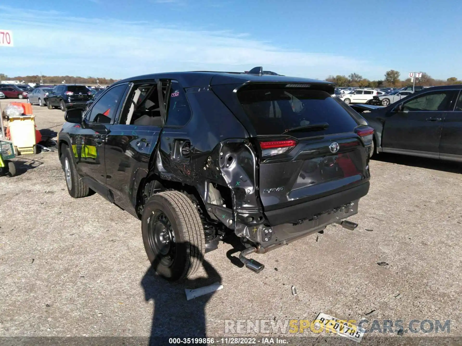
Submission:
[[[208,286],[215,282],[221,283],[221,276],[203,259],[202,266],[207,273],[206,278],[170,282],[158,276],[154,270],[160,259],[156,258],[141,280],[146,301],[154,301],[149,345],[169,344],[169,338],[206,337],[205,306],[214,292],[186,300],[184,290]]]

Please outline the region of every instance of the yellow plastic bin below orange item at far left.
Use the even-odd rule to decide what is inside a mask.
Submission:
[[[34,115],[12,116],[8,119],[8,126],[14,153],[16,155],[36,154]]]

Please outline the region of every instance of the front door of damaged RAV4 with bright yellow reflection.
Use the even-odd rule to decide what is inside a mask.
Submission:
[[[81,174],[101,185],[106,185],[104,146],[111,124],[120,111],[126,89],[127,84],[118,84],[108,89],[85,114],[80,131],[82,138],[77,168]]]

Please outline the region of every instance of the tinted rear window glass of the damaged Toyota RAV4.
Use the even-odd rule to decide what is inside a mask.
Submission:
[[[277,135],[293,127],[319,123],[329,126],[307,135],[349,132],[358,126],[339,102],[322,90],[246,89],[239,91],[237,97],[257,135]]]

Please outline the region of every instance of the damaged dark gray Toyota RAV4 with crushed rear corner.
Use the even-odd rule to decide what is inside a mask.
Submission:
[[[357,226],[345,219],[369,191],[373,130],[332,94],[332,83],[261,67],[121,80],[65,114],[67,189],[140,218],[147,257],[168,280],[193,274],[234,234],[258,273],[253,252],[334,222]]]

